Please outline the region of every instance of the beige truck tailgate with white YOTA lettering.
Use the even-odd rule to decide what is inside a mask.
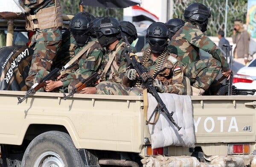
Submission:
[[[256,96],[192,96],[196,143],[255,142]]]

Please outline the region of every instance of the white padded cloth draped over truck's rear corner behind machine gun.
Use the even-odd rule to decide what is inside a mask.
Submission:
[[[167,146],[195,147],[192,102],[190,96],[170,93],[159,93],[159,95],[166,104],[169,112],[174,111],[172,117],[182,128],[178,131],[167,116],[160,112],[157,123],[148,125],[152,148]],[[156,106],[157,101],[148,93],[148,119]]]

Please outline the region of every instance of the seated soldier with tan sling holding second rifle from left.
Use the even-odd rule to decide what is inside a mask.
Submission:
[[[95,31],[102,47],[106,47],[101,67],[101,81],[96,87],[83,89],[85,94],[128,95],[130,87],[122,84],[127,62],[122,55],[126,47],[121,37],[121,26],[113,17],[104,17],[96,22]],[[89,91],[89,90],[93,91]],[[94,92],[94,93],[93,93]]]

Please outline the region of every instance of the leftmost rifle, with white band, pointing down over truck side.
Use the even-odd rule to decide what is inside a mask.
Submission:
[[[55,78],[60,75],[61,69],[55,68],[53,69],[48,75],[46,75],[44,78],[41,78],[38,82],[33,84],[31,88],[26,92],[26,95],[23,98],[18,98],[18,104],[22,103],[24,100],[26,100],[30,95],[35,94],[38,89],[46,86],[46,81],[54,80]]]

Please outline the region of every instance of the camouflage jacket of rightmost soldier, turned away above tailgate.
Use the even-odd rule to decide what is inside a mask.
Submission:
[[[209,52],[213,58],[221,62],[222,70],[227,71],[229,66],[221,50],[212,40],[199,29],[199,26],[186,22],[172,37],[171,45],[177,48],[177,55],[182,64],[186,65],[200,60],[199,48]]]

